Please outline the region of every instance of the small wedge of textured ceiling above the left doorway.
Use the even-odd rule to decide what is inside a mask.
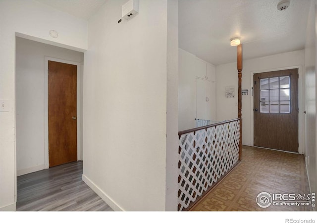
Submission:
[[[82,19],[89,19],[106,0],[36,0]]]

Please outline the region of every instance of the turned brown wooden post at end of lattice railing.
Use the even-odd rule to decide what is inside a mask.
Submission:
[[[240,119],[240,141],[239,141],[239,160],[242,153],[242,44],[237,46],[237,68],[238,68],[238,118]]]

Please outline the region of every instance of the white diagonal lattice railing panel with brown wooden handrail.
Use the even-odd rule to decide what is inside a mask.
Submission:
[[[178,135],[178,210],[182,211],[238,162],[240,119],[182,131]]]

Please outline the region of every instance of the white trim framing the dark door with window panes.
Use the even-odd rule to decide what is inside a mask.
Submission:
[[[250,79],[251,79],[251,89],[252,89],[252,95],[251,95],[251,145],[254,145],[254,115],[253,115],[253,75],[255,73],[263,73],[263,72],[270,72],[270,71],[278,71],[278,70],[288,70],[288,69],[294,69],[298,68],[298,153],[304,154],[305,149],[305,125],[304,125],[304,81],[303,81],[303,67],[302,65],[297,66],[288,66],[288,67],[281,67],[281,68],[272,68],[272,69],[265,69],[265,70],[257,70],[252,71],[250,73]]]

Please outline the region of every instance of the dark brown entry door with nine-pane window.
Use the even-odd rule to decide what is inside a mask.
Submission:
[[[254,145],[298,152],[298,69],[254,74]]]

